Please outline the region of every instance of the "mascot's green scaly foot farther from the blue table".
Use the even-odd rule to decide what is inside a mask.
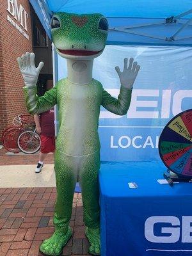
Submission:
[[[46,239],[40,245],[40,252],[44,255],[58,256],[63,252],[63,247],[67,244],[72,236],[72,230],[68,227],[67,233],[63,234],[60,230],[56,230],[49,239]]]

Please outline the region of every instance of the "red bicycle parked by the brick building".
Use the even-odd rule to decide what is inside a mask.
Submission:
[[[16,116],[13,119],[13,126],[4,130],[2,142],[4,148],[13,153],[36,153],[40,149],[40,136],[36,133],[33,116]]]

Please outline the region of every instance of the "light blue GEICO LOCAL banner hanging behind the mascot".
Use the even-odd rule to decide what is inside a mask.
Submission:
[[[134,57],[141,69],[127,115],[100,109],[101,159],[159,160],[157,147],[164,125],[192,105],[192,49],[107,45],[94,61],[93,77],[114,97],[120,90],[115,67],[122,69],[125,57]],[[58,58],[59,79],[67,76],[66,64],[66,60]]]

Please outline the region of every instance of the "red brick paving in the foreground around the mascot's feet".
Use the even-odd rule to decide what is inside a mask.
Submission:
[[[38,256],[42,240],[54,228],[56,188],[0,188],[0,255]],[[70,226],[73,236],[62,255],[88,255],[81,194],[74,194]]]

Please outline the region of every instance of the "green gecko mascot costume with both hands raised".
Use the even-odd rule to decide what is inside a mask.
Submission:
[[[69,221],[76,182],[81,186],[83,220],[89,253],[100,255],[100,209],[98,173],[100,142],[98,122],[100,106],[116,115],[125,115],[131,102],[132,84],[140,66],[133,58],[124,70],[116,67],[120,77],[118,99],[92,78],[93,59],[106,45],[108,21],[101,14],[76,15],[55,13],[51,20],[52,41],[58,54],[67,59],[68,76],[44,96],[36,95],[36,82],[44,63],[35,67],[35,54],[26,52],[18,58],[24,78],[24,95],[28,112],[40,114],[58,104],[59,131],[56,140],[55,174],[57,198],[54,234],[40,245],[45,255],[60,255],[72,236]]]

